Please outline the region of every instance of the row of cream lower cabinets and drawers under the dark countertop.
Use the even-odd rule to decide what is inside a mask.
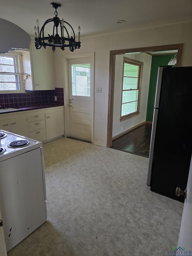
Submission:
[[[64,135],[64,107],[0,114],[0,129],[45,142]]]

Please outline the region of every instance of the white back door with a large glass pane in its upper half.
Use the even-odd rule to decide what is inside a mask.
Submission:
[[[70,59],[70,137],[91,141],[91,58]]]

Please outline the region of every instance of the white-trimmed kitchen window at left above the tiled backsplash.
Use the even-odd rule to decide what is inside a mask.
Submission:
[[[25,92],[21,53],[0,54],[0,93]]]

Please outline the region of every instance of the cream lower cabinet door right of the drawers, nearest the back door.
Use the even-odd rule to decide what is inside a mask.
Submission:
[[[45,114],[47,140],[64,134],[64,111]]]

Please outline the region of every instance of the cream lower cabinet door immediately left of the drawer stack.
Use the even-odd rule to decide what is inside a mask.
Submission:
[[[26,116],[10,119],[9,122],[10,122],[10,131],[11,132],[13,132],[15,134],[19,134],[21,136],[29,137]]]

